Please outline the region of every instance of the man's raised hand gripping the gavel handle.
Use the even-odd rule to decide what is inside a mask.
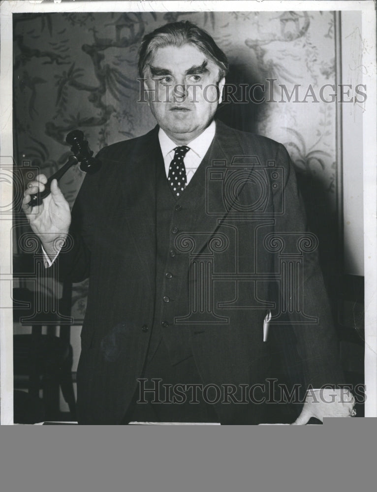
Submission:
[[[24,193],[22,208],[29,219],[31,229],[39,237],[48,256],[56,256],[63,241],[67,237],[71,223],[69,204],[65,200],[57,180],[51,182],[51,193],[43,199],[39,206],[29,205],[30,195],[44,190],[47,178],[39,174],[31,181]]]

